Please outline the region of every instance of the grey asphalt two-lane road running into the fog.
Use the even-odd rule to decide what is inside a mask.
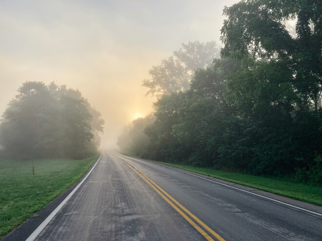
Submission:
[[[322,215],[104,151],[35,240],[321,241]]]

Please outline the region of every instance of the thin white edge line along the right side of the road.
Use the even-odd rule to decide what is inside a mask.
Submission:
[[[119,153],[118,153],[119,154]],[[120,155],[120,154],[119,154]],[[124,155],[122,155],[124,156]],[[124,157],[127,157],[128,159],[131,159],[133,157],[128,157],[128,156],[124,156]],[[141,160],[144,160],[144,159],[141,159]],[[148,160],[145,160],[145,161],[148,161]],[[151,162],[151,161],[149,161]],[[279,203],[279,204],[283,204],[283,205],[286,205],[286,206],[290,206],[290,207],[293,207],[293,208],[296,208],[296,209],[300,209],[302,211],[305,211],[305,212],[309,212],[309,213],[312,213],[312,214],[315,214],[315,215],[318,215],[318,216],[321,216],[322,217],[322,213],[318,213],[318,212],[314,212],[314,211],[311,211],[311,210],[308,210],[308,209],[305,209],[305,208],[302,208],[302,207],[299,207],[299,206],[295,206],[295,205],[292,205],[292,204],[288,204],[288,203],[284,203],[282,201],[279,201],[279,200],[276,200],[276,199],[273,199],[273,198],[269,198],[269,197],[266,197],[266,196],[263,196],[261,194],[257,194],[257,193],[254,193],[254,192],[250,192],[250,191],[247,191],[247,190],[244,190],[244,189],[241,189],[241,188],[238,188],[238,187],[235,187],[235,186],[231,186],[231,185],[227,185],[227,184],[223,184],[223,183],[220,183],[220,182],[217,182],[217,181],[214,181],[214,180],[210,180],[208,178],[204,178],[204,177],[201,177],[201,176],[198,176],[198,175],[195,175],[195,174],[192,174],[192,173],[189,173],[189,172],[186,172],[186,171],[182,171],[178,168],[174,168],[174,167],[170,167],[170,166],[167,166],[167,165],[164,165],[164,164],[161,164],[161,163],[157,163],[157,162],[152,162],[152,163],[155,163],[155,164],[158,164],[160,166],[163,166],[163,167],[168,167],[170,169],[174,169],[174,170],[177,170],[177,171],[181,171],[183,173],[186,173],[186,174],[189,174],[191,176],[195,176],[195,177],[198,177],[198,178],[201,178],[201,179],[204,179],[204,180],[207,180],[209,182],[213,182],[213,183],[216,183],[216,184],[219,184],[219,185],[223,185],[223,186],[227,186],[227,187],[230,187],[230,188],[233,188],[233,189],[236,189],[236,190],[239,190],[239,191],[242,191],[242,192],[246,192],[248,194],[251,194],[251,195],[254,195],[254,196],[258,196],[258,197],[261,197],[261,198],[264,198],[264,199],[267,199],[267,200],[270,200],[270,201],[273,201],[275,203]]]

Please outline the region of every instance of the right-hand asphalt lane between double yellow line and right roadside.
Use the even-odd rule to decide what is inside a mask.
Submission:
[[[118,156],[153,179],[225,240],[322,240],[322,215],[254,196],[175,168]],[[316,208],[316,211],[321,213],[322,208]]]

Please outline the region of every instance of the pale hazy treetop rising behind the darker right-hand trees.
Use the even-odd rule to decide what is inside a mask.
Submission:
[[[142,86],[149,88],[146,95],[177,93],[189,89],[189,82],[195,69],[210,65],[219,56],[219,46],[214,42],[188,42],[182,44],[173,56],[163,59],[161,65],[149,71],[150,79],[144,79]]]

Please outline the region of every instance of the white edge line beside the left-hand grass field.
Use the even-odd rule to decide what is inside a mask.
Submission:
[[[102,153],[101,153],[102,156]],[[67,203],[67,201],[71,198],[71,196],[73,196],[73,194],[77,191],[78,188],[80,188],[80,185],[82,185],[82,183],[87,179],[87,177],[89,176],[89,174],[91,174],[91,172],[93,171],[93,169],[96,167],[96,165],[98,164],[98,162],[101,159],[101,156],[99,157],[99,159],[97,160],[97,162],[95,163],[95,165],[92,167],[92,169],[87,173],[87,175],[83,178],[83,180],[81,180],[81,182],[73,189],[73,191],[71,191],[71,193],[69,193],[69,195],[55,208],[54,211],[52,211],[51,214],[49,214],[49,216],[43,221],[41,222],[41,224],[38,226],[38,228],[36,228],[36,230],[26,239],[26,241],[34,241],[37,236],[40,234],[40,232],[42,231],[42,229],[45,228],[45,226],[55,217],[55,215],[59,212],[59,210],[62,208],[62,206]]]

